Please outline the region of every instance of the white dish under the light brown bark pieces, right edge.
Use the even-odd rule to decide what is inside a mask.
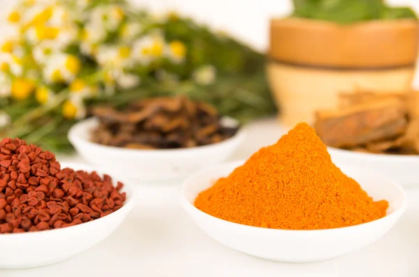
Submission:
[[[419,155],[368,154],[328,147],[334,163],[379,172],[402,186],[419,186]]]

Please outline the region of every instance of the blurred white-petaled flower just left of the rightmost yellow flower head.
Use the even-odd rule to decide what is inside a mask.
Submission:
[[[143,66],[163,56],[165,43],[162,36],[144,36],[133,45],[133,59]]]

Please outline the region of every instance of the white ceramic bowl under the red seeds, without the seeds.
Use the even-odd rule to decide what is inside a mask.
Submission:
[[[88,172],[96,170],[85,165],[61,163],[61,168],[64,167]],[[105,173],[101,170],[96,171],[99,174]],[[61,262],[98,244],[112,234],[133,209],[137,192],[129,181],[110,176],[114,181],[124,183],[122,191],[126,192],[126,202],[121,209],[103,218],[57,230],[0,234],[0,269],[42,267]]]

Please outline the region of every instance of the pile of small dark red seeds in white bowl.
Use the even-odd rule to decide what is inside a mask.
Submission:
[[[122,207],[123,184],[108,175],[61,170],[54,154],[24,140],[0,142],[0,234],[85,223]]]

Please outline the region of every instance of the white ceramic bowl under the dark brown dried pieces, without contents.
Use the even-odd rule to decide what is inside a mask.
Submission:
[[[238,124],[226,118],[230,124]],[[124,149],[90,141],[90,132],[98,125],[91,118],[76,123],[68,132],[68,139],[78,154],[87,162],[108,172],[117,172],[133,180],[168,180],[188,177],[203,167],[217,165],[240,146],[244,139],[241,129],[223,142],[187,149]]]

